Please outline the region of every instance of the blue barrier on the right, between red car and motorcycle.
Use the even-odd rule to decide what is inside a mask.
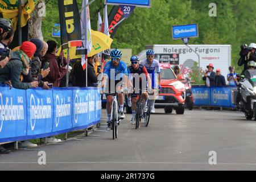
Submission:
[[[236,107],[232,104],[232,89],[235,87],[192,86],[196,106]]]

